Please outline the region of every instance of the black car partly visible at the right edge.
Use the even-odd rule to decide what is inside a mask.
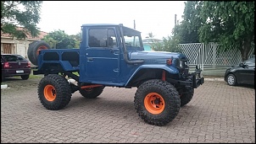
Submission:
[[[254,85],[254,72],[255,57],[226,69],[224,76],[225,82],[231,86],[241,83]]]

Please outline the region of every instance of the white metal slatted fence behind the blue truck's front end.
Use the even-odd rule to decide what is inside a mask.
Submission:
[[[242,56],[238,50],[220,51],[220,45],[216,43],[191,43],[180,44],[182,52],[188,57],[191,67],[199,65],[206,75],[223,76],[225,69],[242,62]],[[249,53],[253,56],[255,45]]]

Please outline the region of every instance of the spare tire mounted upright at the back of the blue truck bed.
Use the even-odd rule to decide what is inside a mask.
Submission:
[[[51,47],[44,40],[33,41],[29,45],[27,51],[27,56],[29,57],[31,63],[37,66],[37,56],[39,55],[39,51],[47,49],[51,49]]]

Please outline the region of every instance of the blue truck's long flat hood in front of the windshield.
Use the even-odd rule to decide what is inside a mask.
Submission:
[[[187,59],[184,54],[180,52],[166,52],[166,51],[133,51],[129,53],[130,60],[149,60],[149,59]]]

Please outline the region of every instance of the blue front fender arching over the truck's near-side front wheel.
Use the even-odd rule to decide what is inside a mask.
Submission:
[[[142,69],[161,69],[161,70],[165,70],[166,72],[169,72],[170,74],[177,74],[177,73],[179,73],[177,68],[175,68],[175,67],[168,67],[166,65],[152,65],[152,64],[150,64],[150,65],[142,65],[140,67],[137,67],[136,71],[133,72],[133,74],[131,75],[131,77],[127,81],[127,83],[125,83],[125,86],[127,86],[128,83],[131,82],[131,79],[136,76],[136,73],[140,72],[140,70],[142,70]]]

